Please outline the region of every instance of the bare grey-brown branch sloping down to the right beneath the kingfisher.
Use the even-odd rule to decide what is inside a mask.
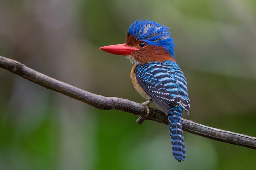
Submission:
[[[142,104],[132,102],[127,99],[105,97],[86,92],[64,82],[55,80],[54,78],[46,76],[40,72],[36,72],[24,64],[11,59],[7,59],[5,57],[0,56],[0,67],[9,70],[10,72],[13,72],[14,74],[17,74],[23,78],[26,78],[27,80],[30,80],[36,84],[39,84],[40,86],[62,93],[76,100],[80,100],[81,102],[89,104],[98,109],[118,109],[142,117],[145,117],[147,114],[146,107]],[[150,107],[150,114],[148,115],[147,119],[168,125],[165,113],[152,107]],[[202,137],[256,149],[255,137],[208,127],[186,119],[182,119],[182,127],[184,131],[194,133]]]

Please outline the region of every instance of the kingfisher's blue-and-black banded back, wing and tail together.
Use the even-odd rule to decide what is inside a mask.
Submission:
[[[172,154],[178,161],[186,159],[181,124],[182,109],[190,107],[186,78],[173,61],[148,62],[136,66],[136,79],[151,99],[168,115]]]

